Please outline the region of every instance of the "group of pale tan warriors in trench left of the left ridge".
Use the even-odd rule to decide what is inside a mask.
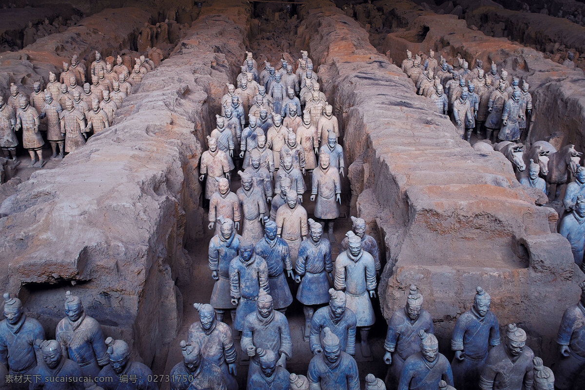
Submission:
[[[51,157],[63,158],[64,153],[83,146],[91,133],[111,126],[116,110],[132,93],[133,85],[153,69],[153,61],[141,56],[129,73],[120,56],[112,65],[96,51],[90,68],[91,84],[85,82],[86,70],[76,55],[71,64],[63,63],[59,78],[49,73],[44,90],[42,82],[35,82],[28,98],[20,94],[18,85],[11,84],[8,99],[0,96],[0,148],[16,160],[15,132],[22,130],[22,146],[29,151],[30,165],[42,167],[44,140],[40,132],[46,131],[53,149]]]

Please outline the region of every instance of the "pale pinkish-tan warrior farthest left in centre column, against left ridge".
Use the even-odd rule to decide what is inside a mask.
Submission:
[[[207,137],[208,150],[201,154],[201,163],[199,164],[199,181],[205,179],[205,199],[211,199],[214,192],[219,191],[219,182],[216,178],[230,177],[230,168],[228,156],[223,150],[218,149],[218,141],[215,137]]]

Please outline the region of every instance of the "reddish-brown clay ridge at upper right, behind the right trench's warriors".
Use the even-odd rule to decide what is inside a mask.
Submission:
[[[398,26],[404,27],[401,32],[388,34],[380,48],[383,53],[388,51],[399,62],[405,58],[407,47],[413,53],[419,50],[428,53],[434,48],[448,57],[460,53],[469,60],[483,60],[486,67],[494,61],[498,69],[505,68],[510,75],[524,78],[530,84],[534,106],[530,141],[544,140],[553,132],[559,132],[563,145],[570,143],[579,151],[585,149],[582,70],[555,63],[540,51],[508,39],[489,37],[469,29],[465,20],[455,15],[436,15],[407,0],[385,0],[377,4],[383,9],[387,23],[395,20]]]

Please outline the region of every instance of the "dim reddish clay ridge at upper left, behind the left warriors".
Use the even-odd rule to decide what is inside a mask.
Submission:
[[[69,63],[73,54],[81,59],[93,58],[88,55],[95,50],[104,58],[118,54],[131,46],[149,19],[150,13],[140,8],[108,8],[81,19],[66,32],[40,38],[19,51],[0,53],[0,93],[8,96],[13,82],[21,94],[29,96],[35,81],[42,79],[47,85],[49,72],[59,75],[63,62]]]

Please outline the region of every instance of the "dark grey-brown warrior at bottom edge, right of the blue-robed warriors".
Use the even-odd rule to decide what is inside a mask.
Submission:
[[[526,346],[526,332],[516,324],[509,324],[505,329],[504,343],[491,348],[487,355],[480,390],[532,388],[534,352]]]

